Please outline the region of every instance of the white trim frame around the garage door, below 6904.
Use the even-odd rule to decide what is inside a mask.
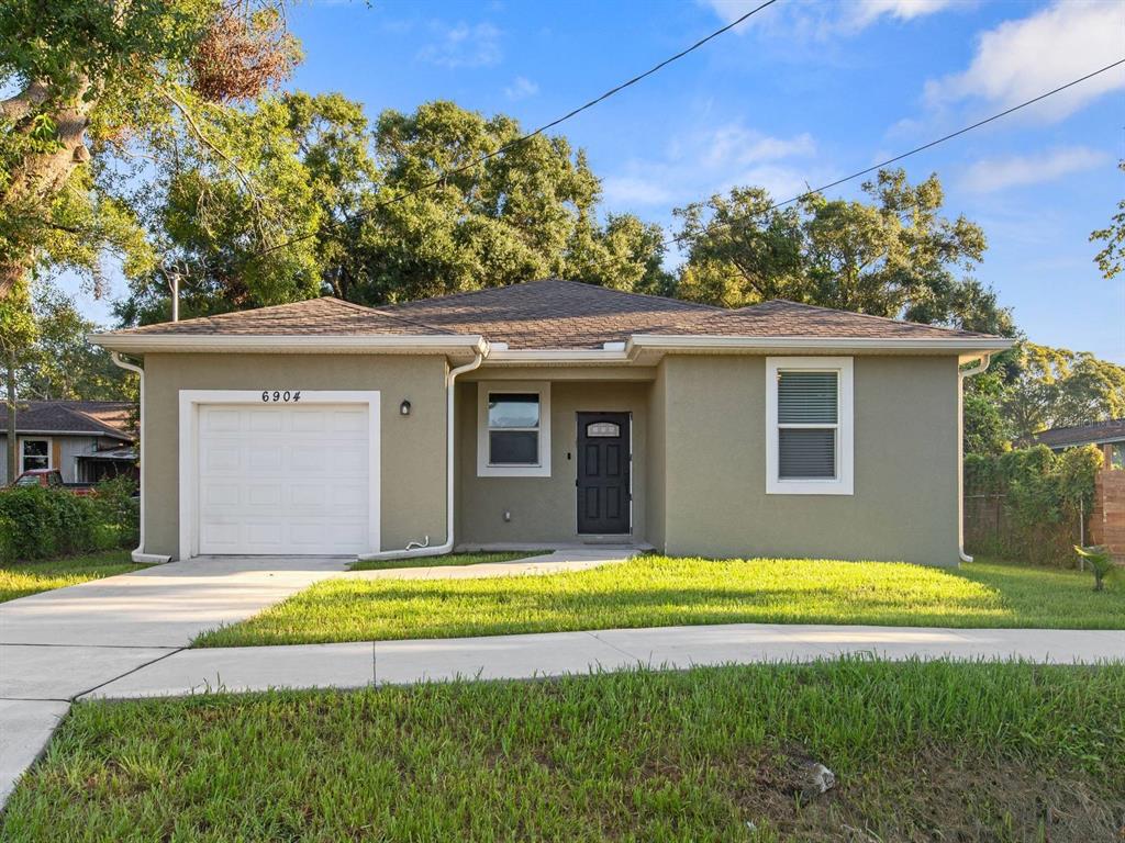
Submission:
[[[243,404],[256,407],[296,407],[309,404],[366,404],[368,419],[368,544],[371,553],[378,553],[380,542],[381,489],[378,390],[300,390],[300,404],[263,404],[260,389],[181,389],[179,414],[179,495],[180,495],[180,542],[179,559],[199,555],[199,522],[197,499],[199,496],[199,405]],[[143,435],[143,434],[142,434]]]

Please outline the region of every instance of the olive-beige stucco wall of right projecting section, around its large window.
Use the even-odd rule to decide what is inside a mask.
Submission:
[[[663,443],[650,446],[665,452],[665,535],[654,543],[670,554],[955,565],[956,359],[854,365],[855,493],[783,496],[765,493],[765,357],[666,357]]]

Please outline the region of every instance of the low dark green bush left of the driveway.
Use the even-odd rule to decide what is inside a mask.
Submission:
[[[126,547],[137,541],[135,483],[117,478],[97,493],[20,487],[0,492],[0,563]]]

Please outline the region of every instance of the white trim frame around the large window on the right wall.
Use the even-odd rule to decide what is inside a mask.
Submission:
[[[852,357],[766,357],[766,495],[853,495],[855,411]],[[839,375],[834,480],[782,480],[778,475],[777,373],[803,370]]]

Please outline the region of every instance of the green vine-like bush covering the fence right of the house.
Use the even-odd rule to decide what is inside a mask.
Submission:
[[[965,545],[970,553],[1072,565],[1102,464],[1092,446],[1045,445],[965,456]]]

